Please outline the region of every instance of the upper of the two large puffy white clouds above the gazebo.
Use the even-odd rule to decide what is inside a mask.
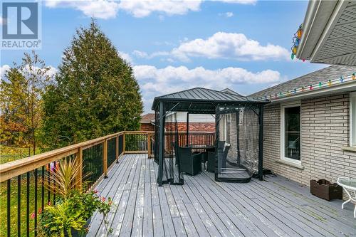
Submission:
[[[182,61],[193,57],[225,58],[235,60],[289,60],[286,48],[268,43],[262,46],[258,41],[247,38],[243,33],[217,32],[213,36],[192,41],[182,41],[170,52],[135,53],[141,58],[170,56]]]

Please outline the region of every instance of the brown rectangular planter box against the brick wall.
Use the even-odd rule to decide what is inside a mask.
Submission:
[[[342,187],[326,179],[310,180],[310,193],[328,201],[342,199]]]

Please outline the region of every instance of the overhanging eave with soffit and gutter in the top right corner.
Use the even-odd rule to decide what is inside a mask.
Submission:
[[[296,57],[356,65],[356,1],[309,1]]]

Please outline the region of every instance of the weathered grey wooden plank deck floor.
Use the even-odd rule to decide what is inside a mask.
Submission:
[[[113,198],[110,236],[356,236],[353,205],[324,201],[282,177],[248,184],[214,181],[203,172],[184,186],[156,183],[147,154],[125,154],[97,186]],[[88,236],[106,236],[96,214]]]

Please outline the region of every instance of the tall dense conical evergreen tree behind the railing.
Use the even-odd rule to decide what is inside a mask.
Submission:
[[[43,99],[49,144],[61,136],[81,142],[140,127],[142,100],[132,68],[95,21],[76,31]]]

